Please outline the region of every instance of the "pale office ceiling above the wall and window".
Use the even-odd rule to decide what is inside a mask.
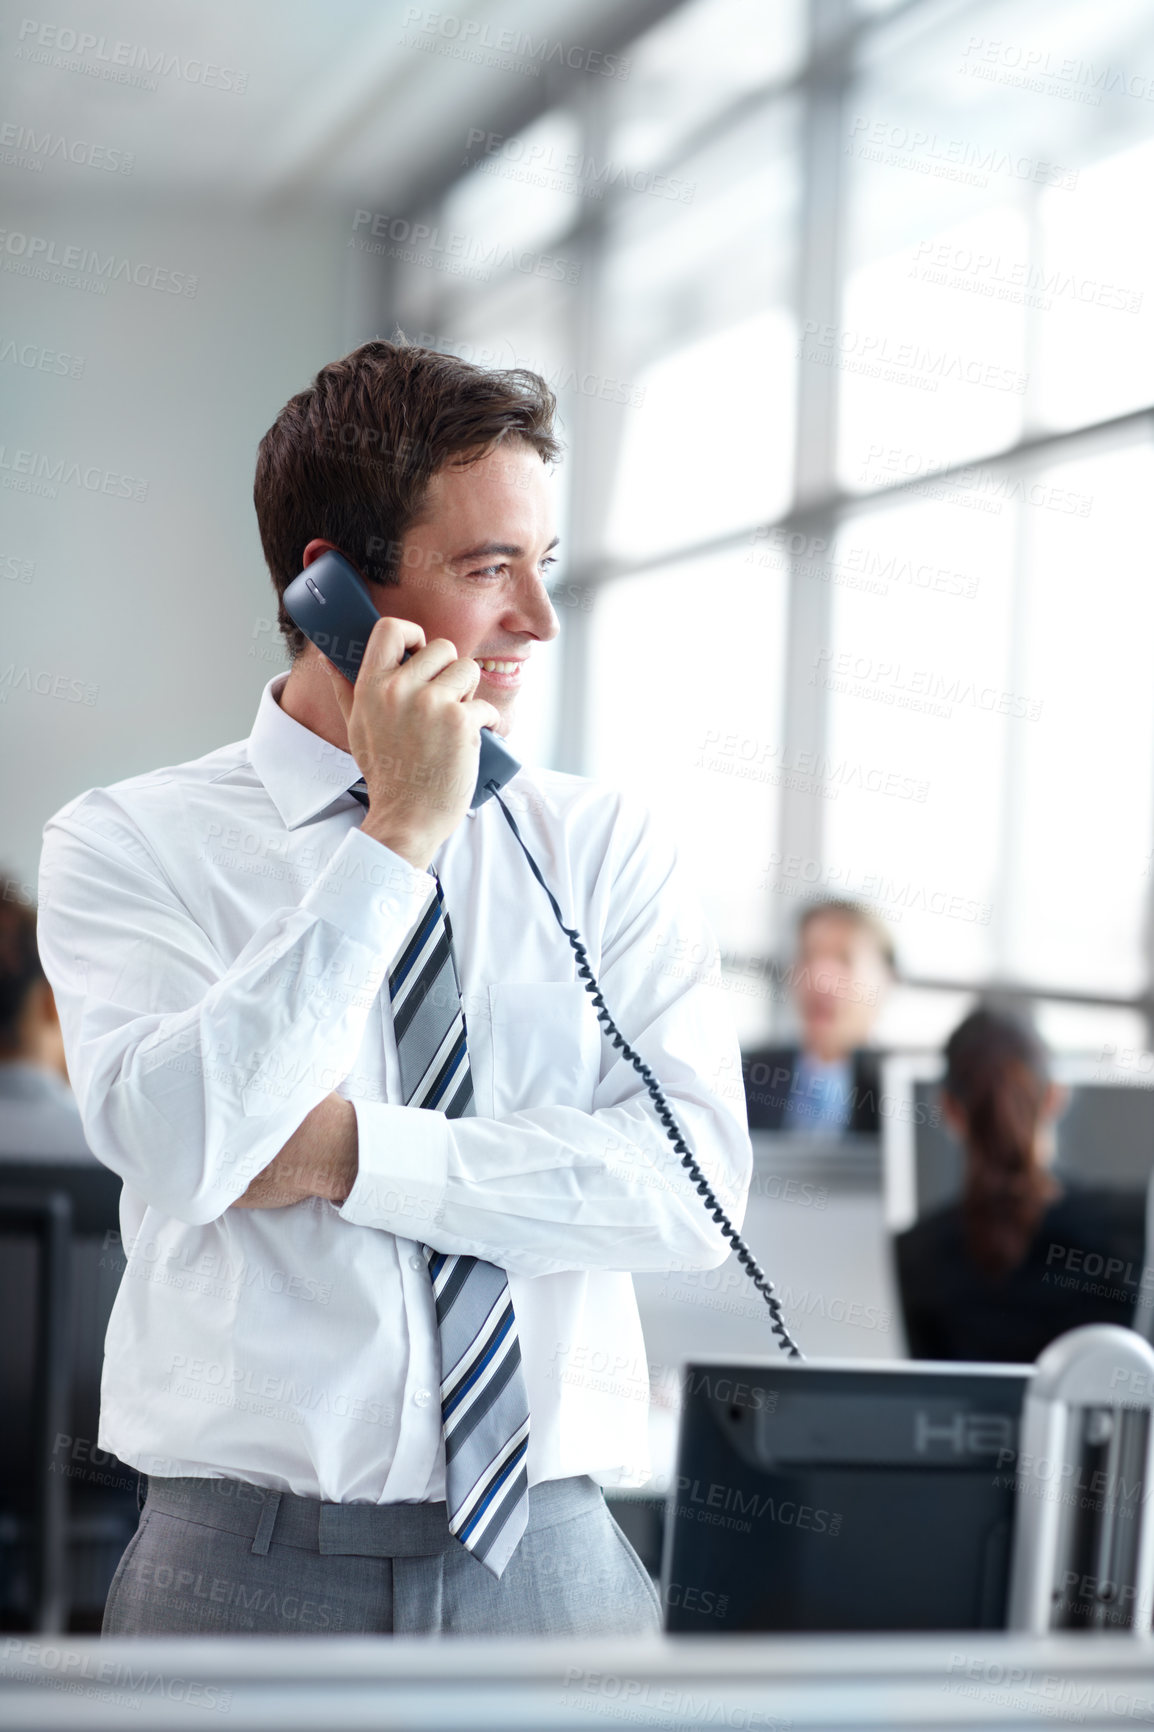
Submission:
[[[133,152],[135,163],[132,173],[109,173],[49,156],[40,171],[0,165],[0,175],[21,203],[78,192],[92,201],[373,196],[378,208],[404,210],[414,187],[461,163],[471,126],[492,128],[528,107],[546,80],[551,87],[556,71],[530,76],[492,64],[502,31],[596,48],[603,29],[617,33],[634,17],[643,28],[650,10],[652,0],[466,0],[454,10],[397,0],[182,0],[166,7],[107,0],[99,9],[73,0],[50,12],[36,9],[57,33],[42,40],[14,9],[0,45],[7,74],[0,123],[62,137],[69,147]],[[447,31],[463,31],[470,21],[473,43],[483,31],[494,43],[490,62],[445,52],[459,50],[461,35],[423,28],[435,19],[451,21]],[[100,45],[62,52],[68,31],[99,36]],[[437,52],[409,45],[407,35]],[[73,69],[116,66],[118,43],[128,45],[121,62],[128,61],[130,73],[142,54],[154,61],[161,52],[165,62],[192,62],[194,74],[152,73],[158,88],[149,90]],[[244,74],[244,88],[206,87],[198,62]],[[12,149],[14,133],[5,132],[3,142]]]

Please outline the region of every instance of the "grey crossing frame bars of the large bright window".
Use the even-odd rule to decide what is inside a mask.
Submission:
[[[632,10],[631,17],[617,19],[603,35],[603,50],[627,54],[650,29],[681,10],[688,0],[650,0],[643,9]],[[920,24],[932,21],[934,12],[950,10],[939,0],[898,0],[898,3],[875,12],[861,10],[854,0],[802,0],[806,47],[795,71],[783,78],[771,78],[759,88],[750,90],[740,100],[693,128],[660,163],[653,165],[655,173],[676,175],[679,165],[721,139],[733,126],[750,114],[781,100],[797,100],[801,107],[799,137],[799,173],[801,173],[801,222],[797,236],[797,272],[794,284],[792,310],[797,327],[804,320],[837,326],[840,322],[842,286],[844,286],[844,242],[849,225],[849,206],[846,189],[846,163],[840,149],[846,109],[851,99],[853,81],[861,61],[861,50],[880,29],[892,29],[898,21],[910,19]],[[509,97],[502,113],[494,114],[490,130],[511,137],[523,132],[554,107],[570,109],[579,123],[580,149],[586,161],[605,161],[608,145],[608,100],[610,87],[603,78],[570,76],[565,83],[541,81],[532,92],[516,92]],[[471,170],[466,170],[470,173]],[[411,218],[437,222],[444,211],[449,192],[461,184],[461,173],[454,173],[437,187],[423,187],[419,199],[407,210]],[[574,223],[553,241],[553,248],[563,251],[567,258],[580,263],[580,281],[572,296],[568,313],[567,341],[570,345],[568,365],[579,374],[596,369],[594,331],[600,312],[601,277],[606,260],[606,241],[612,229],[613,213],[629,199],[622,189],[606,189],[603,199],[584,199]],[[378,296],[374,313],[385,310],[386,317],[402,313],[397,307],[395,270],[383,279],[383,293]],[[454,305],[449,282],[431,282],[426,286],[426,310],[421,315],[428,329],[447,329],[447,308]],[[492,293],[499,282],[490,282],[485,293]],[[451,315],[449,315],[451,317]],[[405,327],[407,329],[407,327]],[[1029,407],[1029,405],[1028,405]],[[567,547],[567,580],[580,585],[596,604],[596,591],[624,577],[641,575],[650,570],[676,565],[679,561],[700,559],[712,553],[724,553],[750,546],[755,535],[771,532],[780,537],[823,539],[833,546],[839,530],[873,507],[885,507],[899,502],[903,495],[915,492],[918,478],[896,480],[877,488],[849,492],[837,478],[837,414],[839,381],[833,367],[799,367],[795,400],[795,464],[792,504],[773,520],[761,523],[735,525],[731,530],[700,542],[665,547],[643,558],[606,559],[594,537],[582,525],[603,521],[608,497],[603,478],[596,466],[584,456],[587,449],[586,433],[593,405],[580,397],[574,402],[570,416],[568,468],[568,523],[570,537]],[[955,466],[934,468],[934,480],[948,483],[951,476],[965,469],[981,466],[993,473],[1022,473],[1022,469],[1062,456],[1066,450],[1079,449],[1093,452],[1111,442],[1128,438],[1154,438],[1154,405],[1111,416],[1102,421],[1069,426],[1055,431],[1038,430],[1029,414],[1024,419],[1022,435],[1010,447],[986,456],[967,457]],[[788,556],[787,556],[788,561]],[[799,558],[787,563],[787,618],[785,618],[785,691],[783,691],[783,752],[794,759],[802,753],[814,753],[818,759],[827,750],[828,740],[828,705],[832,695],[816,682],[809,682],[802,670],[811,669],[814,656],[823,644],[830,643],[833,594],[830,584],[814,584],[799,570]],[[1015,570],[1015,592],[1021,584],[1021,566]],[[570,610],[565,620],[560,669],[560,703],[558,703],[558,745],[556,766],[575,774],[586,772],[586,738],[591,701],[591,611]],[[1014,767],[1010,766],[1010,776]],[[823,812],[821,802],[802,788],[790,788],[788,778],[776,790],[778,837],[783,852],[797,854],[802,859],[821,861],[823,852]],[[1154,790],[1151,790],[1154,798]],[[1005,847],[1005,833],[998,840]],[[768,927],[766,954],[728,954],[735,968],[742,972],[764,970],[764,977],[773,980],[783,977],[790,944],[790,909],[773,913],[775,927]],[[1154,1050],[1154,871],[1151,873],[1151,890],[1145,914],[1145,986],[1133,996],[1090,991],[1062,991],[1048,984],[1031,980],[989,979],[984,982],[958,980],[934,973],[903,973],[904,989],[917,992],[965,992],[986,987],[996,991],[1003,999],[1019,1003],[1022,1008],[1040,1005],[1076,1005],[1102,1006],[1111,1010],[1131,1010],[1144,1018],[1147,1046]],[[781,1032],[785,1010],[780,992],[769,994],[768,1011],[773,1020],[769,1034]]]

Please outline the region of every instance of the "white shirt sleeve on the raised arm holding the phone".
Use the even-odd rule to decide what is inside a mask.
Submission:
[[[38,944],[97,1159],[165,1214],[217,1219],[352,1070],[428,889],[352,828],[225,963],[109,792],[62,807]]]

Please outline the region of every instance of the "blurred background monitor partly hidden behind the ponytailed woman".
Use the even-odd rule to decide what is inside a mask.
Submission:
[[[941,1115],[941,1055],[882,1060],[885,1223],[899,1233],[962,1192],[962,1145]],[[1088,1058],[1055,1057],[1069,1103],[1055,1126],[1055,1171],[1086,1185],[1142,1190],[1154,1171],[1149,1077]]]

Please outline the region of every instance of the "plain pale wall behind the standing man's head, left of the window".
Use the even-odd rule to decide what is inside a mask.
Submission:
[[[95,248],[198,279],[194,296],[125,279],[97,294],[0,272],[0,869],[35,894],[42,826],[75,793],[248,734],[288,665],[251,504],[256,445],[366,333],[347,327],[343,206],[255,216],[24,196],[3,220],[57,256]],[[3,244],[0,265],[28,258]],[[80,378],[52,357],[29,369],[12,343],[24,360],[83,360]],[[42,481],[55,497],[36,497],[12,485],[17,452],[147,492]],[[95,701],[73,700],[92,688]]]

